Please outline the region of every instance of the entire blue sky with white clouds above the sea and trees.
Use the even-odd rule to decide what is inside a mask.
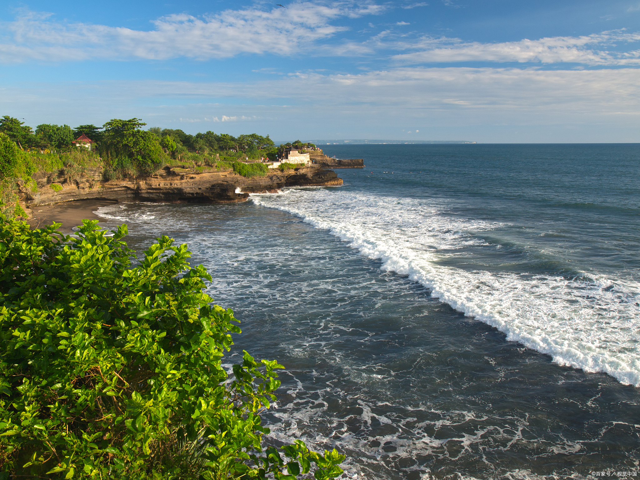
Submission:
[[[640,0],[281,1],[5,1],[0,115],[275,140],[640,142]]]

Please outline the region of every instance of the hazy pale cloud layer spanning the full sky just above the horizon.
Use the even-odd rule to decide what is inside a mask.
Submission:
[[[337,129],[353,132],[349,136],[356,138],[356,129],[377,131],[378,138],[385,138],[383,133],[398,125],[417,124],[424,140],[456,135],[507,142],[640,140],[639,68],[403,67],[357,75],[308,72],[272,78],[253,83],[4,85],[0,111],[27,118],[32,126],[100,124],[132,117],[170,126],[182,118],[185,127],[191,126],[189,132],[204,131],[211,128],[205,122],[214,122],[216,131],[239,134],[250,129],[272,138],[289,138],[293,132],[307,132],[307,138],[331,136]],[[167,99],[173,99],[170,105]],[[77,109],[78,103],[90,103],[92,109]],[[493,133],[492,125],[514,124],[529,125],[522,129],[529,136]],[[491,132],[481,136],[483,131]]]

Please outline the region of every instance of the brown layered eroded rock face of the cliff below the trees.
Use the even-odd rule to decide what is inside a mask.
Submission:
[[[220,204],[243,202],[249,193],[275,192],[285,186],[342,185],[332,170],[316,165],[280,172],[269,170],[265,177],[246,179],[235,172],[167,168],[155,175],[123,180],[102,180],[100,169],[87,169],[79,178],[69,179],[60,172],[38,172],[33,178],[38,191],[22,188],[27,207],[70,200],[139,200],[145,202],[193,202]],[[53,188],[52,188],[53,186]]]

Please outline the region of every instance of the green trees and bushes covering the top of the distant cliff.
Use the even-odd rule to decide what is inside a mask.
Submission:
[[[40,124],[35,131],[18,118],[0,118],[0,211],[20,216],[19,200],[36,190],[35,172],[58,172],[72,182],[88,168],[101,168],[103,180],[150,175],[164,166],[234,170],[245,177],[264,176],[262,161],[275,159],[278,148],[269,136],[237,138],[212,131],[186,134],[180,129],[151,127],[139,118],[109,120],[102,127]],[[86,135],[91,148],[74,144]]]

